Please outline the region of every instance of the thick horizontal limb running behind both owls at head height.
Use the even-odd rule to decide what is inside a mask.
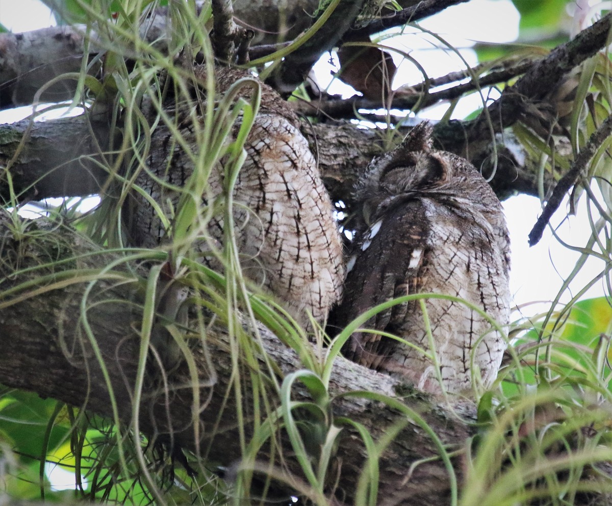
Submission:
[[[302,123],[302,133],[308,138],[319,161],[319,170],[332,199],[349,203],[353,186],[368,163],[382,150],[375,131],[359,130],[349,123]],[[0,125],[0,166],[6,167],[15,155],[28,120],[12,125]],[[164,128],[160,125],[158,128]],[[408,133],[408,128],[405,129]],[[85,196],[99,193],[107,174],[103,155],[96,139],[108,136],[102,124],[90,125],[87,116],[34,123],[21,152],[10,166],[13,188],[21,202],[47,197]],[[487,166],[491,145],[487,140],[466,146],[465,133],[436,127],[438,145],[442,149],[469,156],[477,167]],[[502,198],[515,191],[537,195],[538,161],[530,158],[512,133],[499,138],[499,160],[491,185]],[[509,148],[504,147],[508,145]],[[485,172],[486,174],[486,172]],[[0,197],[9,198],[7,181],[0,178]]]

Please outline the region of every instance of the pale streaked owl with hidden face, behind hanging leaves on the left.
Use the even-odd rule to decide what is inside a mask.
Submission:
[[[203,69],[196,68],[196,75],[198,73],[203,77]],[[231,68],[220,68],[215,73],[220,93],[247,75],[245,71]],[[300,323],[308,324],[307,312],[323,322],[340,297],[344,277],[341,242],[332,216],[332,204],[308,142],[299,131],[297,117],[274,90],[264,84],[261,87],[259,114],[248,134],[247,159],[233,194],[234,232],[242,270],[252,281],[274,294]],[[245,89],[241,96],[246,97],[250,92],[252,89]],[[193,139],[192,120],[187,113],[183,120],[181,124],[179,119],[182,135]],[[239,123],[234,125],[234,136]],[[179,193],[156,182],[155,178],[181,187],[192,173],[193,163],[181,145],[173,144],[168,130],[157,128],[152,134],[151,146],[150,160],[157,160],[157,163],[151,163],[141,172],[136,184],[170,216]],[[193,152],[197,153],[198,149],[192,145]],[[155,166],[160,169],[152,174]],[[215,209],[212,206],[223,193],[222,182],[223,161],[209,177],[203,204],[211,207],[203,207],[204,215],[207,210]],[[136,195],[135,198],[140,200],[130,229],[136,242],[149,247],[163,243],[168,230],[163,228],[162,221],[142,197]],[[210,251],[211,247],[221,248],[224,226],[223,211],[218,209],[207,226],[200,230],[201,240],[195,244],[201,262],[217,270],[222,267],[213,260]]]

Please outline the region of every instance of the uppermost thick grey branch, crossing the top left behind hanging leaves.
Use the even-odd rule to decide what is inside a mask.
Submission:
[[[221,0],[219,2],[223,4]],[[201,8],[203,3],[203,0],[196,1],[198,8]],[[280,35],[297,36],[310,23],[310,18],[305,13],[312,12],[318,4],[316,0],[294,0],[284,4],[284,7],[274,2],[252,0],[234,3],[236,18],[248,20],[248,23],[241,21],[241,24],[256,31],[259,42],[278,40],[279,34],[276,31],[286,23],[289,23],[286,34]],[[229,11],[221,9],[220,14],[223,12],[225,15],[217,16],[217,23],[220,25],[216,29],[221,33],[223,23],[232,20]],[[419,16],[419,12],[421,11],[417,9],[415,16]],[[154,43],[162,52],[167,51],[170,38],[166,13],[167,9],[155,10],[143,24],[140,34],[143,40]],[[225,21],[222,23],[221,20]],[[0,34],[0,109],[30,104],[37,90],[51,79],[64,73],[78,73],[85,50],[85,33],[84,26],[75,25],[44,28],[23,34]],[[315,39],[318,37],[315,36]],[[102,51],[103,44],[95,32],[89,33],[89,41],[90,56]],[[272,44],[255,46],[249,51],[250,58],[267,56],[278,48],[278,45]],[[319,50],[313,51],[316,53]],[[321,50],[321,53],[323,52],[324,50]],[[95,75],[99,69],[99,65],[92,65],[89,73]],[[60,81],[50,87],[40,99],[49,102],[69,100],[75,92],[75,84],[72,80]]]

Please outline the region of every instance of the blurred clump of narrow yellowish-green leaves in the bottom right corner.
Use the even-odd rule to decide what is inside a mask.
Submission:
[[[583,474],[585,466],[592,469],[610,460],[609,447],[599,445],[597,436],[586,440],[579,436],[584,443],[578,448],[572,443],[576,435],[584,435],[584,428],[606,424],[609,410],[584,406],[580,398],[574,398],[573,402],[567,399],[568,411],[558,409],[555,403],[561,393],[559,388],[539,389],[513,403],[498,417],[496,424],[483,435],[472,465],[466,467],[469,472],[462,506],[493,503],[509,506],[517,501],[530,503],[530,499],[542,494],[563,497],[566,492],[572,494],[577,490],[610,490],[609,477],[602,474],[600,480],[589,483],[591,475]],[[510,440],[509,433],[513,435]],[[561,453],[559,447],[563,449]],[[562,480],[564,490],[558,488],[558,480]],[[566,488],[566,485],[569,486]],[[573,504],[573,501],[560,504]]]

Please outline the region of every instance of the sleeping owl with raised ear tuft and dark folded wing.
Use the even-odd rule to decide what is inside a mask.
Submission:
[[[427,320],[419,301],[383,310],[362,327],[401,340],[356,332],[345,356],[434,394],[442,387],[466,394],[472,376],[490,386],[506,342],[463,303],[509,323],[509,237],[490,186],[468,161],[433,150],[431,127],[420,123],[397,149],[371,162],[355,197],[365,226],[353,241],[335,326],[403,295],[461,301],[425,296]]]

